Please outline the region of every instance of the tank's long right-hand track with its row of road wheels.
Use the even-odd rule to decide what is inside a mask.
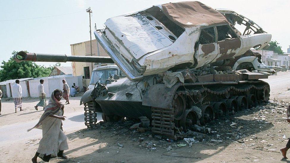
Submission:
[[[152,132],[176,139],[176,134],[181,130],[186,132],[188,123],[189,125],[205,125],[220,116],[253,107],[257,103],[267,102],[269,92],[269,85],[264,82],[180,86],[175,92],[171,109],[152,107]],[[183,102],[185,103],[182,104]],[[176,103],[179,106],[176,107]],[[196,110],[191,109],[193,106],[201,110],[201,118],[198,117]],[[193,118],[188,120],[189,113],[189,117]]]

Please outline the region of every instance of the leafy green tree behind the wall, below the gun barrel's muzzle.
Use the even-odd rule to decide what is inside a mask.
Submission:
[[[16,53],[16,51],[13,51],[12,56]],[[39,66],[32,61],[17,63],[12,57],[7,62],[2,61],[0,67],[0,81],[27,77],[46,77],[51,73],[50,67]]]

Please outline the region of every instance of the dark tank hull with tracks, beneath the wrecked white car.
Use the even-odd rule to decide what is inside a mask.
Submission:
[[[188,125],[186,118],[189,115],[195,116],[191,123],[205,125],[221,116],[268,101],[269,84],[260,78],[267,78],[267,75],[242,70],[234,74],[201,75],[195,82],[185,80],[185,83],[177,82],[171,88],[155,83],[156,76],[149,76],[141,82],[124,78],[91,91],[91,110],[107,117],[146,117],[152,121],[155,134],[176,139],[177,130],[190,130],[192,124]],[[100,93],[101,90],[107,91],[104,94]],[[201,110],[200,116],[193,108]],[[90,114],[86,112],[85,115]],[[95,123],[86,124],[95,127]]]

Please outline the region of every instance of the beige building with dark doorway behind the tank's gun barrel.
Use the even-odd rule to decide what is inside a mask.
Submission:
[[[105,50],[99,45],[100,56],[108,56]],[[90,41],[81,42],[70,45],[72,56],[91,56]],[[97,40],[92,40],[92,56],[98,56],[97,52]],[[86,62],[72,62],[73,76],[85,76],[86,79],[90,79],[92,70],[98,67],[99,63],[86,63]],[[87,84],[89,81],[87,81]]]

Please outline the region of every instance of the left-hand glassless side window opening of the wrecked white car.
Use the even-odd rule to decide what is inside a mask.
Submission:
[[[216,36],[216,34],[215,34],[214,27],[201,29],[198,42],[199,42],[199,44],[215,43],[215,39],[216,39],[215,36]]]

